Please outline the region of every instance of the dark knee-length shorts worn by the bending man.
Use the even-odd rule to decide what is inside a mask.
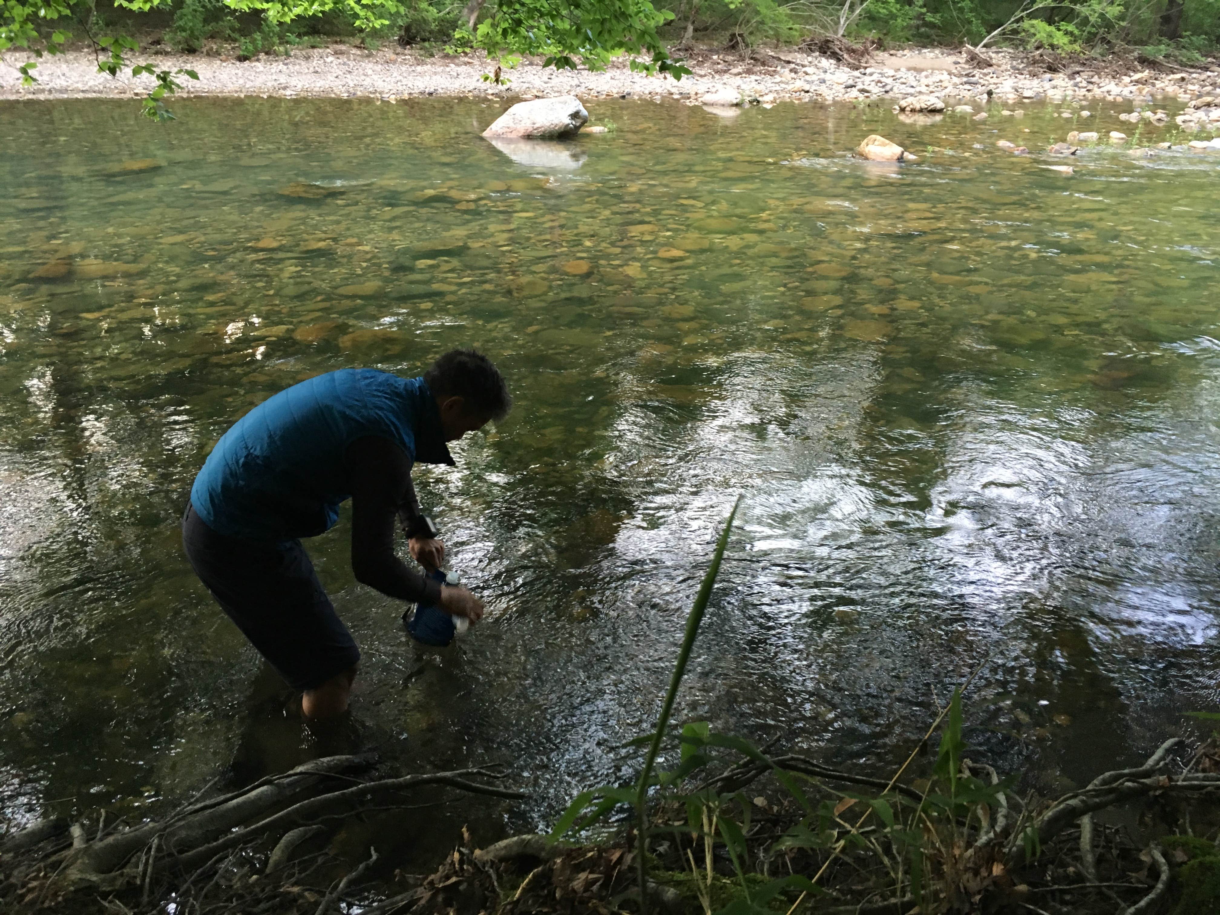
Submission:
[[[294,689],[320,687],[360,660],[300,540],[228,537],[188,505],[182,543],[221,609]]]

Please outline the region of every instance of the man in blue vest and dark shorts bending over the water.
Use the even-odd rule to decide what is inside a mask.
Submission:
[[[300,538],[316,537],[351,499],[351,570],[403,600],[439,604],[472,623],[483,604],[394,555],[394,518],[426,569],[444,544],[420,514],[416,461],[453,465],[448,442],[500,420],[504,378],[475,350],[440,356],[422,378],[342,368],[294,384],[243,416],[190,489],[182,539],[221,609],[294,689],[305,717],[346,710],[360,650],[334,612]]]

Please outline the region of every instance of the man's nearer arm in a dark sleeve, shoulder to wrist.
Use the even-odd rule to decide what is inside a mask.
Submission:
[[[389,439],[366,437],[348,447],[351,479],[351,571],[382,594],[439,604],[440,584],[409,569],[394,555],[394,518],[399,510],[418,514],[411,486],[411,461]]]

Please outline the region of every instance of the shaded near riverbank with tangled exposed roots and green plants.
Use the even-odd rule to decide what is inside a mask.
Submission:
[[[688,795],[687,806],[692,797],[703,799],[706,828],[691,827],[689,810],[664,803],[655,809],[649,908],[710,913],[753,888],[764,909],[843,915],[908,913],[916,905],[928,913],[1130,906],[1128,913],[1147,915],[1171,905],[1181,915],[1202,911],[1181,906],[1205,900],[1199,894],[1209,892],[1213,872],[1220,874],[1211,842],[1220,826],[1216,760],[1210,744],[1187,754],[1175,738],[1142,766],[1105,772],[1080,791],[1038,803],[1014,793],[991,766],[965,759],[948,783],[938,781],[944,772],[902,783],[797,754],[752,752]],[[592,845],[516,836],[476,849],[464,831],[456,850],[425,877],[394,870],[395,861],[376,847],[350,859],[334,855],[326,839],[345,825],[371,811],[443,803],[437,797],[443,788],[523,797],[495,784],[500,776],[488,770],[370,778],[372,764],[362,756],[317,760],[196,799],[155,822],[129,825],[102,814],[71,826],[35,824],[0,843],[0,909],[149,915],[639,909],[630,825]],[[810,817],[811,806],[794,803],[793,777],[810,799],[831,798],[820,821]],[[854,794],[856,786],[880,793]],[[745,788],[756,797],[747,799]],[[783,800],[772,800],[776,795]],[[728,833],[717,841],[716,819],[727,820],[738,802],[748,814],[734,850]],[[1119,806],[1139,811],[1142,834],[1097,819]],[[421,816],[427,815],[403,814],[398,828],[416,828]],[[1175,831],[1194,834],[1168,834]],[[803,834],[809,841],[793,841]],[[913,880],[903,844],[916,841],[924,870]],[[777,877],[788,883],[775,888]]]

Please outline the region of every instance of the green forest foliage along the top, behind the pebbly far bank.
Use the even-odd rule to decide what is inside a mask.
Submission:
[[[673,71],[693,44],[999,45],[1199,63],[1220,50],[1220,0],[0,0],[0,56],[92,41],[116,66],[157,48],[290,54],[346,39],[599,68],[619,54]],[[35,67],[28,74],[34,77]],[[681,70],[676,73],[681,76]]]

